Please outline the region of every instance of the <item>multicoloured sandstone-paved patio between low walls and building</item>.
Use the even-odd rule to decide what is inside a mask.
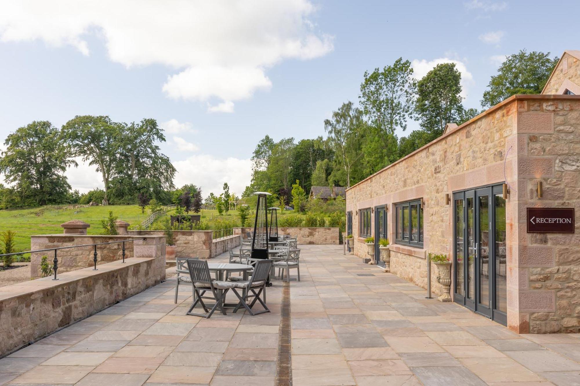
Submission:
[[[169,278],[0,359],[0,384],[266,386],[291,366],[294,385],[580,385],[580,334],[519,335],[342,246],[299,247],[302,281],[274,281],[269,314],[186,316]]]

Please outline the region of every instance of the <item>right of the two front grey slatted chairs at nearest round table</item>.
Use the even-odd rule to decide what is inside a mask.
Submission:
[[[237,312],[240,307],[244,307],[252,316],[263,314],[264,312],[270,312],[270,308],[266,305],[266,286],[271,268],[271,260],[260,260],[256,262],[252,279],[248,281],[235,282],[235,288],[233,288],[232,291],[235,296],[238,297],[240,303],[235,306],[234,312]],[[243,290],[242,295],[235,290],[236,288]],[[256,292],[256,290],[258,290],[258,292]],[[263,300],[260,295],[263,296]],[[252,297],[252,303],[248,304],[248,298]],[[264,307],[263,311],[252,311],[252,307],[256,304],[256,301],[259,301],[260,304],[262,304],[262,307]]]

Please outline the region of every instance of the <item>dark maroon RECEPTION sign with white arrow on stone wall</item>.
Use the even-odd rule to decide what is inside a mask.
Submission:
[[[528,207],[528,233],[574,233],[573,207]]]

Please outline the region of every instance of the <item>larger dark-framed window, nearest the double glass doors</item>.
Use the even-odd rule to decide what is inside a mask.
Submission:
[[[395,206],[396,243],[423,247],[423,208],[421,201],[401,202]]]

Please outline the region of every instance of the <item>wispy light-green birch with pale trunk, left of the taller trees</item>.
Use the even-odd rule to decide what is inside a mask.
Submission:
[[[335,151],[335,162],[345,173],[346,187],[350,187],[352,169],[362,155],[357,134],[363,125],[362,111],[350,101],[333,111],[332,119],[324,120],[324,130]]]

